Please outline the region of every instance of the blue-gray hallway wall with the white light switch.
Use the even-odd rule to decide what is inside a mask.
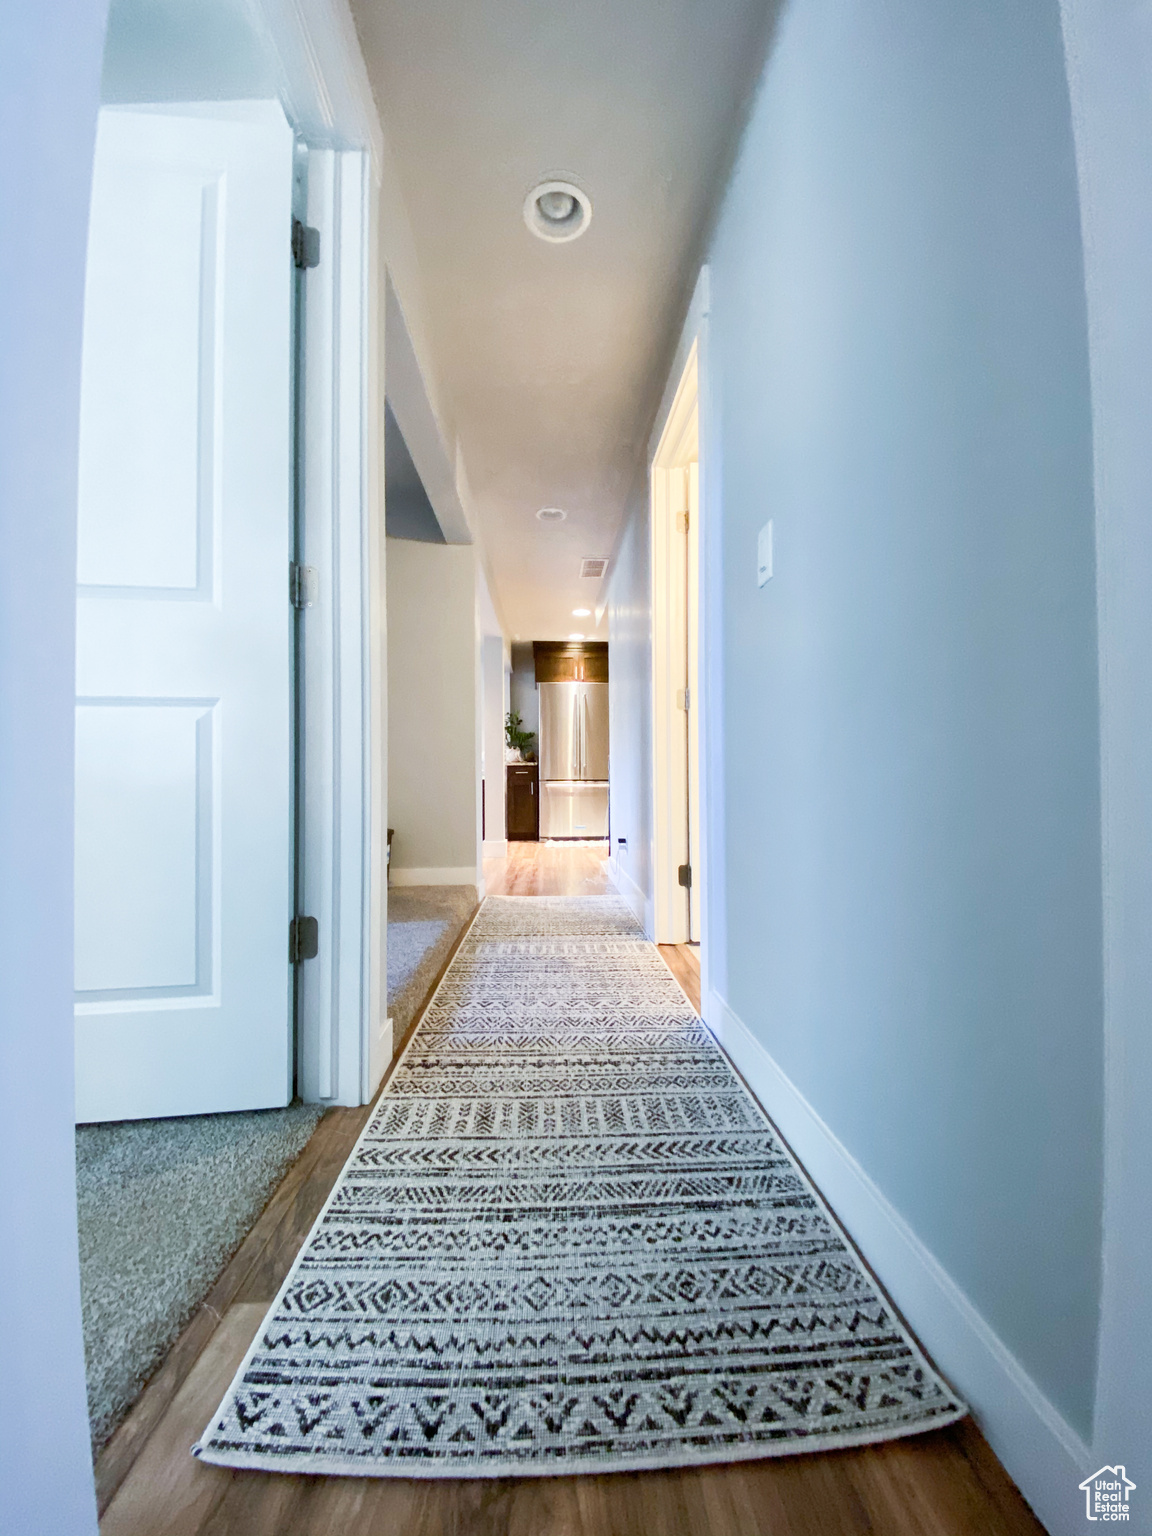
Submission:
[[[1097,631],[1057,0],[791,0],[711,303],[728,1003],[1086,1433]]]

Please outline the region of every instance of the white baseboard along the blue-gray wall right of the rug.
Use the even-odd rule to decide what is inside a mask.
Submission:
[[[1084,1530],[1092,1453],[851,1152],[716,992],[705,1023],[1052,1536]]]

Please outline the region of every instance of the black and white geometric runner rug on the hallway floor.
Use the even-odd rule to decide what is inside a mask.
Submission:
[[[614,1471],[949,1424],[617,897],[488,897],[195,1453]]]

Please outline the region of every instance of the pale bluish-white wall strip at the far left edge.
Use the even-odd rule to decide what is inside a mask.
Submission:
[[[0,1522],[92,1536],[72,1091],[80,327],[98,0],[0,9]]]

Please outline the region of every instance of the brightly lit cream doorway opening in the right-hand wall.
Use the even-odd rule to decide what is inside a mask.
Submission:
[[[703,932],[700,425],[693,344],[651,468],[656,942]]]

